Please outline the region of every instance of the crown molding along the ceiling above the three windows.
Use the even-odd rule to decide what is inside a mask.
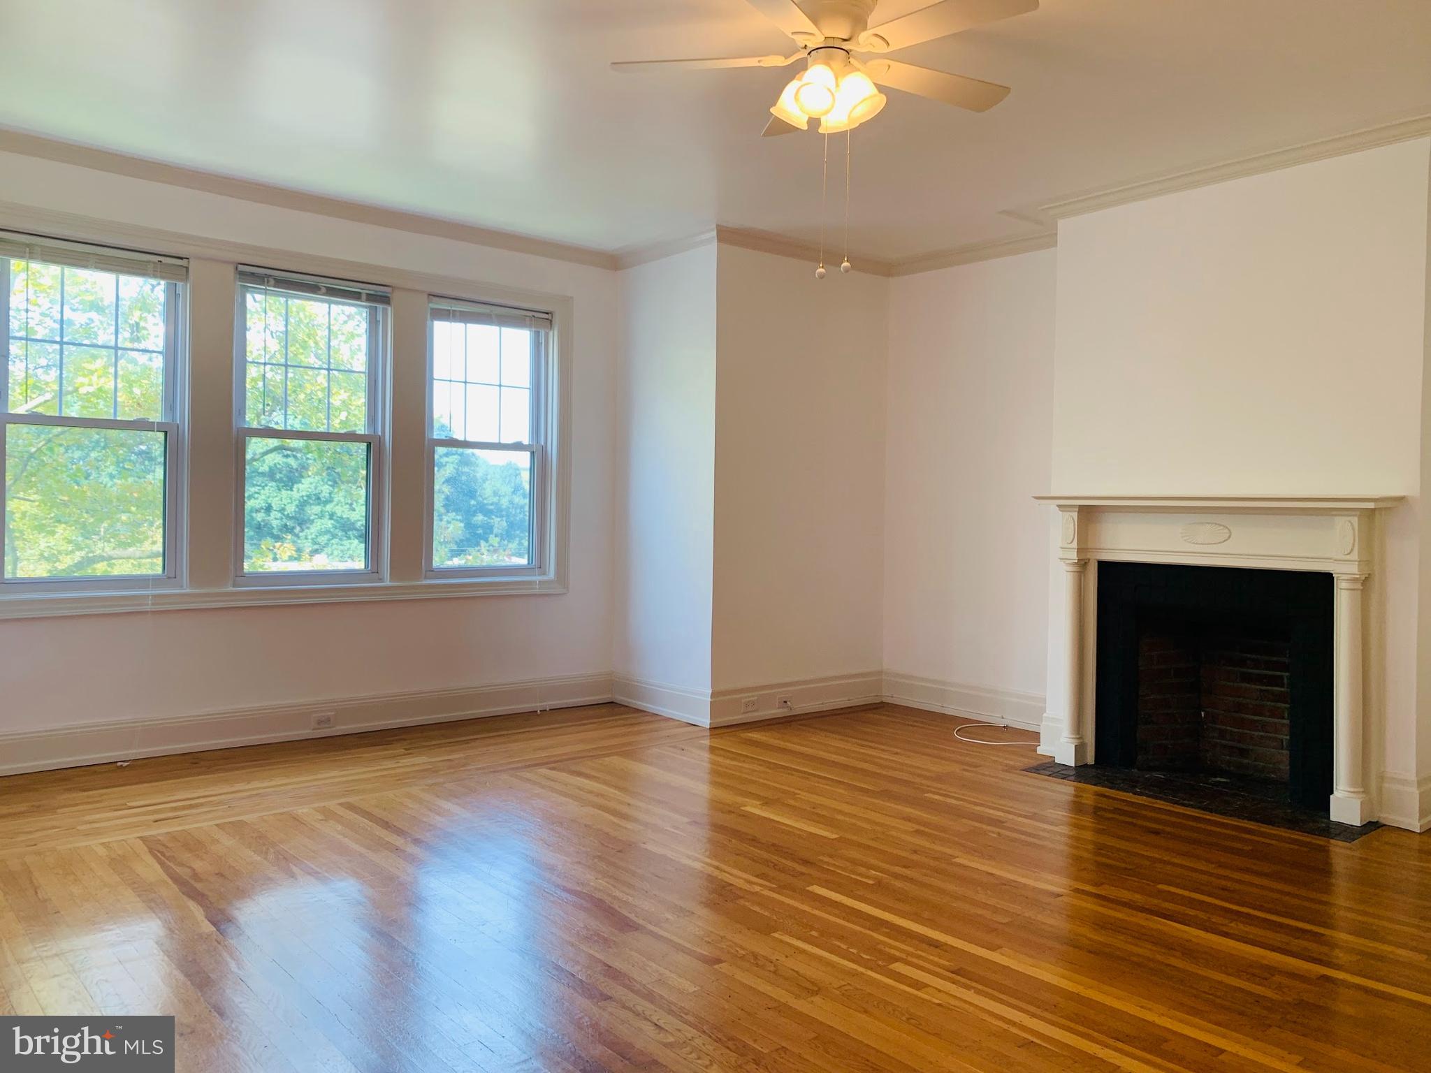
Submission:
[[[572,265],[602,269],[617,268],[617,256],[614,253],[591,249],[590,246],[535,239],[527,235],[445,220],[438,216],[424,216],[422,213],[405,212],[402,209],[384,209],[341,197],[290,190],[250,179],[233,179],[213,172],[199,172],[107,149],[93,149],[73,142],[59,142],[56,139],[40,137],[39,134],[27,134],[19,130],[0,129],[0,153],[33,156],[62,165],[89,167],[94,172],[123,175],[130,179],[145,179],[153,183],[183,186],[190,190],[216,193],[245,202],[272,205],[278,209],[332,216],[341,220],[352,220],[353,223],[368,223],[375,227],[405,230],[414,235],[431,235],[438,239],[452,239],[455,242],[467,242],[474,246],[487,246],[488,249],[501,249],[511,253],[528,253],[535,258],[565,260]]]

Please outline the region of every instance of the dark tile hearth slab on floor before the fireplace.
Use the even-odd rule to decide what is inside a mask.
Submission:
[[[1235,820],[1335,838],[1339,843],[1354,843],[1381,827],[1378,823],[1352,827],[1335,823],[1318,813],[1296,808],[1288,800],[1285,785],[1256,778],[1208,777],[1199,773],[1179,771],[1133,771],[1096,764],[1070,767],[1052,761],[1035,764],[1025,771],[1032,771],[1036,775],[1053,775],[1053,778],[1082,785],[1122,790],[1125,794],[1151,797],[1156,801],[1196,808],[1199,813],[1231,815]]]

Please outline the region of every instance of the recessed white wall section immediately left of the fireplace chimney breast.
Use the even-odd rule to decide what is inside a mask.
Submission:
[[[1043,250],[892,282],[893,674],[962,691],[1045,691],[1049,551],[1032,496],[1049,491],[1056,262]]]

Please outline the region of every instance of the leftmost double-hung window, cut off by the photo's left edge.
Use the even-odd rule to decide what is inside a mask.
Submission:
[[[0,233],[0,592],[182,584],[186,278]]]

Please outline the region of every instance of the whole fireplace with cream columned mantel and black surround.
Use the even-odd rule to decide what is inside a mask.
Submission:
[[[1390,818],[1398,825],[1415,825],[1420,813],[1405,794],[1398,798],[1398,810],[1384,815],[1382,787],[1384,645],[1379,628],[1385,589],[1378,572],[1382,554],[1378,515],[1401,504],[1402,496],[1035,498],[1058,509],[1053,545],[1062,568],[1062,591],[1055,591],[1050,608],[1055,614],[1049,624],[1049,705],[1040,753],[1063,767],[1142,763],[1139,650],[1142,645],[1149,650],[1165,645],[1168,651],[1181,647],[1181,657],[1159,658],[1172,661],[1169,665],[1182,658],[1188,664],[1183,680],[1192,677],[1191,664],[1196,658],[1198,698],[1191,701],[1188,695],[1169,691],[1156,704],[1172,711],[1173,724],[1179,712],[1196,711],[1196,735],[1183,724],[1191,741],[1172,745],[1156,743],[1156,733],[1145,731],[1146,763],[1153,763],[1153,754],[1161,750],[1163,763],[1192,764],[1195,743],[1199,765],[1228,767],[1236,754],[1231,745],[1239,744],[1234,731],[1255,733],[1262,735],[1255,744],[1266,748],[1238,755],[1262,763],[1261,774],[1271,777],[1282,763],[1272,755],[1281,745],[1274,748],[1271,743],[1282,737],[1274,724],[1285,708],[1289,794],[1318,810],[1325,808],[1328,818],[1338,824],[1361,827],[1371,820]],[[1122,584],[1139,571],[1202,568],[1212,569],[1206,575],[1175,572],[1163,577],[1221,575],[1224,579],[1206,585],[1152,581],[1142,589],[1135,584],[1130,594]],[[1312,588],[1304,592],[1301,587]],[[1123,611],[1132,604],[1132,612],[1105,621],[1105,588],[1113,589],[1110,602],[1123,604]],[[1178,595],[1179,588],[1182,595]],[[1192,591],[1202,595],[1188,595]],[[1146,635],[1143,642],[1139,629]],[[1279,648],[1284,644],[1285,657]],[[1281,694],[1268,692],[1262,700],[1268,707],[1261,710],[1266,722],[1236,727],[1235,720],[1224,717],[1246,712],[1224,711],[1229,691],[1219,692],[1219,682],[1271,691],[1279,687],[1281,680],[1271,678],[1262,684],[1228,680],[1232,671],[1256,670],[1228,667],[1226,662],[1254,655],[1252,648],[1258,645],[1268,645],[1259,650],[1266,652],[1259,658],[1269,661],[1264,668],[1268,674],[1278,674],[1271,664],[1285,660],[1285,702]],[[1219,651],[1226,658],[1218,655]],[[1115,674],[1103,660],[1122,661],[1128,674]],[[1203,688],[1205,681],[1211,682],[1211,690]],[[1152,701],[1152,697],[1145,700]],[[1211,730],[1209,722],[1215,724]],[[1169,733],[1168,740],[1176,735]],[[1175,760],[1166,760],[1169,755]],[[1314,803],[1314,795],[1321,795],[1321,801]]]

